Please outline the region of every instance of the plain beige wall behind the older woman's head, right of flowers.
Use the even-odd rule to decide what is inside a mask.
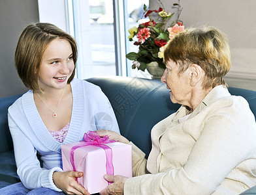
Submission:
[[[178,0],[161,1],[166,10],[176,11],[172,4]],[[157,2],[150,0],[150,8],[158,8]],[[255,0],[181,0],[180,5],[185,27],[213,25],[229,37],[232,67],[227,77],[256,80]]]

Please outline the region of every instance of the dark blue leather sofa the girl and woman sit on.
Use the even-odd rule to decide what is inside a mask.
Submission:
[[[170,101],[166,86],[158,80],[132,77],[94,77],[87,80],[99,85],[110,100],[121,135],[133,141],[148,156],[153,125],[180,107]],[[232,87],[229,91],[233,95],[246,98],[256,114],[255,91]],[[18,97],[20,95],[0,98],[0,188],[20,181],[16,175],[12,139],[7,123],[7,109]],[[256,194],[256,187],[250,188],[244,194]]]

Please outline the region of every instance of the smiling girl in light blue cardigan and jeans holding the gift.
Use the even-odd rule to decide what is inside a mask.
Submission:
[[[22,183],[0,194],[89,194],[76,182],[82,172],[61,169],[61,144],[78,142],[87,131],[120,131],[99,86],[73,79],[76,60],[75,40],[55,25],[36,23],[22,32],[15,65],[30,90],[8,109]]]

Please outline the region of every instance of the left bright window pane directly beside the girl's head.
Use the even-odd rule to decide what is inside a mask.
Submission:
[[[112,0],[72,1],[80,79],[116,75]]]

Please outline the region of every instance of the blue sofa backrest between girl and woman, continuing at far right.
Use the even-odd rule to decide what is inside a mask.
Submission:
[[[99,85],[116,114],[121,135],[138,148],[150,153],[150,132],[157,122],[176,112],[180,107],[170,101],[169,90],[159,80],[133,77],[94,77],[87,81]],[[256,92],[242,88],[229,88],[232,95],[243,96],[256,114]]]

